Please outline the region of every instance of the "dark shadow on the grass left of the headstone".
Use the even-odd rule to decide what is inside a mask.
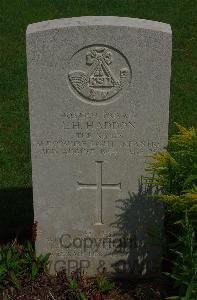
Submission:
[[[30,240],[32,223],[32,189],[0,190],[0,243]]]

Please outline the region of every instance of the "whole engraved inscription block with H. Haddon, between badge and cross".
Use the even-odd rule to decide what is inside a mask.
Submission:
[[[62,111],[57,135],[35,139],[34,154],[42,158],[61,156],[65,159],[99,155],[103,160],[158,152],[160,140],[136,135],[135,118],[135,110]]]

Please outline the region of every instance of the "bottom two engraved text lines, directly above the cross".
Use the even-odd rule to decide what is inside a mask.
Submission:
[[[39,140],[33,143],[36,155],[40,157],[61,156],[71,158],[76,156],[104,155],[116,157],[128,155],[129,157],[145,156],[158,152],[160,143],[151,140],[64,140],[62,137],[54,140]]]

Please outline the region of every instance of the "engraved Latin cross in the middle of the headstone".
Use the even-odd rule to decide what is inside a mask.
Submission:
[[[96,161],[96,184],[91,183],[78,183],[78,189],[89,189],[89,190],[96,190],[97,193],[97,222],[95,225],[102,225],[103,224],[103,190],[112,189],[112,190],[121,190],[121,182],[119,183],[103,183],[102,179],[102,169],[103,169],[103,161]]]

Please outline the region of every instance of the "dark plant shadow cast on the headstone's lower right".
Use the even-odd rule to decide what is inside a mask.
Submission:
[[[164,207],[161,201],[153,199],[158,191],[152,186],[143,186],[139,180],[138,193],[128,192],[127,199],[116,201],[121,213],[116,215],[114,240],[110,254],[120,257],[112,265],[114,275],[125,277],[155,277],[161,272],[162,248],[164,246]],[[125,257],[127,259],[125,259]]]

